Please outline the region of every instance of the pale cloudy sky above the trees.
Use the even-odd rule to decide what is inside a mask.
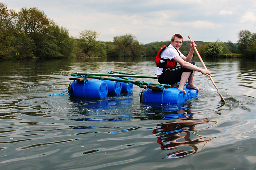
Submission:
[[[237,43],[241,30],[256,32],[255,0],[0,0],[8,9],[36,7],[78,37],[83,30],[100,33],[97,40],[133,34],[141,44],[170,41]]]

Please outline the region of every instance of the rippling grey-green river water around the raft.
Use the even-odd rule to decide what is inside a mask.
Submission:
[[[204,62],[225,104],[199,72],[199,95],[180,105],[140,103],[136,85],[104,99],[48,96],[77,71],[153,76],[154,58],[0,61],[0,168],[256,169],[256,62]]]

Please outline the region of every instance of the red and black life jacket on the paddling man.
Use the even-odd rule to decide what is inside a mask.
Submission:
[[[166,47],[167,46],[164,45],[162,48],[160,48],[158,50],[157,55],[156,55],[156,59],[155,59],[156,66],[159,67],[159,68],[164,68],[164,69],[169,69],[170,67],[176,67],[177,66],[177,62],[175,60],[173,60],[173,59],[169,60],[169,59],[161,58],[161,53],[164,51],[164,49]],[[164,62],[161,63],[160,60],[164,60]]]

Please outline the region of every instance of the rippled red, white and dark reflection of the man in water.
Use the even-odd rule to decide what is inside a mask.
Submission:
[[[196,145],[198,144],[206,144],[211,141],[215,137],[202,137],[191,140],[190,132],[195,131],[195,125],[203,124],[205,122],[209,122],[208,118],[193,120],[191,117],[185,119],[181,122],[166,122],[158,124],[156,129],[153,130],[153,134],[157,134],[157,143],[161,144],[162,150],[172,150],[177,149],[179,146],[191,146],[193,149],[191,151],[180,150],[177,152],[172,152],[167,155],[164,159],[172,159],[172,158],[183,158],[189,154],[194,154],[198,151]],[[180,135],[182,132],[186,132],[185,136]],[[177,142],[178,139],[184,138],[184,142]]]

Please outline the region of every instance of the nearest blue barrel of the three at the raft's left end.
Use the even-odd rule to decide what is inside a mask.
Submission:
[[[84,81],[73,80],[68,87],[71,97],[104,98],[108,95],[108,86],[105,82],[97,79]]]

